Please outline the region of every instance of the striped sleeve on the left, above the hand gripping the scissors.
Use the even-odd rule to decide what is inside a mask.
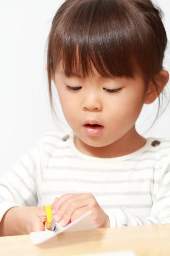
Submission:
[[[38,148],[33,148],[0,177],[0,221],[12,207],[37,206],[35,172],[39,164]]]

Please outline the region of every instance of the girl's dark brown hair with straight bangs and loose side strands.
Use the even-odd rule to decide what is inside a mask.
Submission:
[[[151,0],[66,0],[48,37],[51,109],[51,72],[60,61],[66,76],[84,78],[92,66],[103,77],[134,78],[139,68],[146,89],[152,80],[158,90],[154,77],[163,69],[167,46],[162,15]]]

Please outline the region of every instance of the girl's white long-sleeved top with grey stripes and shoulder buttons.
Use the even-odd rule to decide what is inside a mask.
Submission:
[[[138,151],[107,159],[82,154],[73,137],[44,134],[0,178],[0,220],[14,206],[43,206],[66,193],[90,192],[111,227],[170,223],[170,139],[153,146],[156,139],[149,138]]]

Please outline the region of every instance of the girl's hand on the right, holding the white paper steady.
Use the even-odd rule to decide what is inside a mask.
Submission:
[[[110,220],[94,195],[90,193],[66,194],[55,198],[51,204],[52,213],[62,227],[91,211],[95,228],[109,228]]]

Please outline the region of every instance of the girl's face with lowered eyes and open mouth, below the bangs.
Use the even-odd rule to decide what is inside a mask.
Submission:
[[[52,79],[65,119],[85,144],[110,145],[134,128],[144,103],[142,77],[68,78],[60,67]]]

